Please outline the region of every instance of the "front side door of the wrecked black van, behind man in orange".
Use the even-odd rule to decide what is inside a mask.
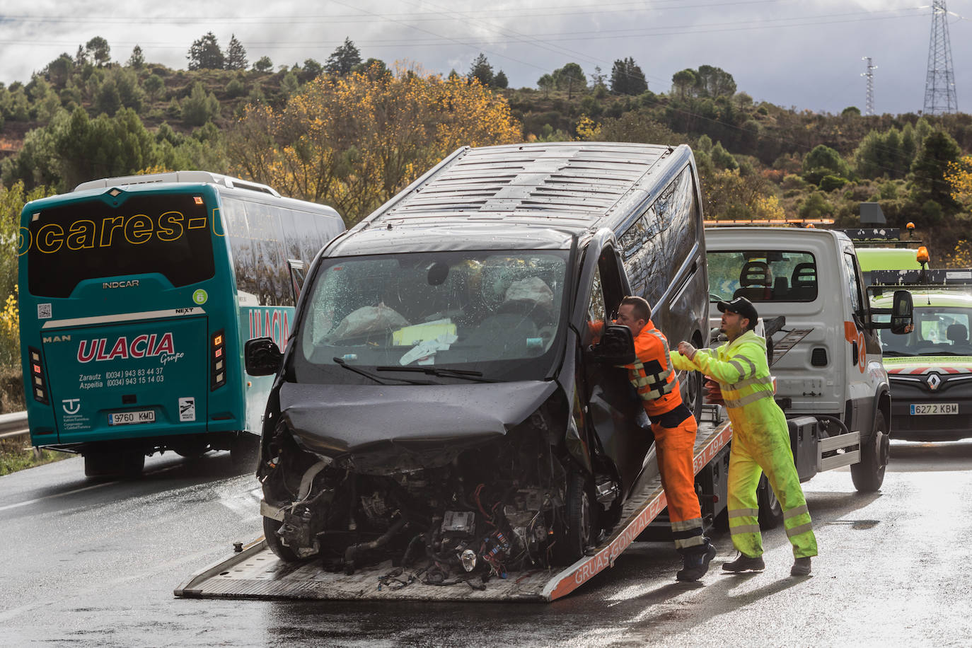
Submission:
[[[589,294],[587,321],[591,325],[584,333],[582,348],[587,349],[592,344],[596,324],[613,319],[614,311],[628,289],[623,272],[613,248],[605,247],[591,284],[586,287]],[[617,466],[627,491],[641,471],[644,456],[651,447],[647,417],[628,382],[625,369],[605,366],[585,357],[583,401],[588,404],[587,421],[601,440],[605,453]]]

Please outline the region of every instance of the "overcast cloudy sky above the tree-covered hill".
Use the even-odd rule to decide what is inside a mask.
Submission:
[[[862,111],[871,56],[877,113],[918,112],[924,99],[930,0],[3,0],[0,82],[27,82],[63,51],[103,36],[113,60],[139,45],[150,62],[185,69],[192,42],[230,35],[252,64],[324,62],[345,37],[363,58],[461,73],[480,51],[513,87],[576,62],[610,73],[634,57],[650,89],[710,64],[757,101],[816,112]],[[923,4],[923,6],[922,6]],[[972,112],[972,0],[950,0],[958,108]],[[967,17],[966,17],[967,16]]]

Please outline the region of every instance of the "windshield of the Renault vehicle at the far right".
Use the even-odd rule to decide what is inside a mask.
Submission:
[[[918,301],[918,295],[916,295]],[[887,322],[890,316],[875,319]],[[906,335],[881,330],[885,356],[972,356],[969,326],[972,308],[955,306],[916,306],[915,329]]]

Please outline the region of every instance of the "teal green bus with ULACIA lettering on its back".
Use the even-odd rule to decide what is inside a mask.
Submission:
[[[270,380],[243,343],[287,344],[303,268],[344,222],[330,207],[202,171],[109,178],[27,203],[20,348],[33,445],[88,476],[146,455],[255,451]]]

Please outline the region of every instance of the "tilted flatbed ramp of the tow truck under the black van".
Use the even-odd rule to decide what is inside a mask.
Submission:
[[[696,474],[725,447],[732,436],[728,423],[701,423],[695,440]],[[652,520],[665,509],[657,462],[645,465],[642,477],[625,503],[621,521],[589,555],[560,569],[512,572],[507,578],[479,578],[454,585],[426,585],[421,579],[409,582],[409,571],[399,571],[391,561],[358,569],[354,574],[333,573],[310,560],[284,563],[266,546],[263,538],[220,563],[195,572],[175,590],[187,598],[310,598],[320,600],[492,600],[551,601],[566,597],[604,569],[634,542]],[[482,589],[475,589],[482,588]]]

